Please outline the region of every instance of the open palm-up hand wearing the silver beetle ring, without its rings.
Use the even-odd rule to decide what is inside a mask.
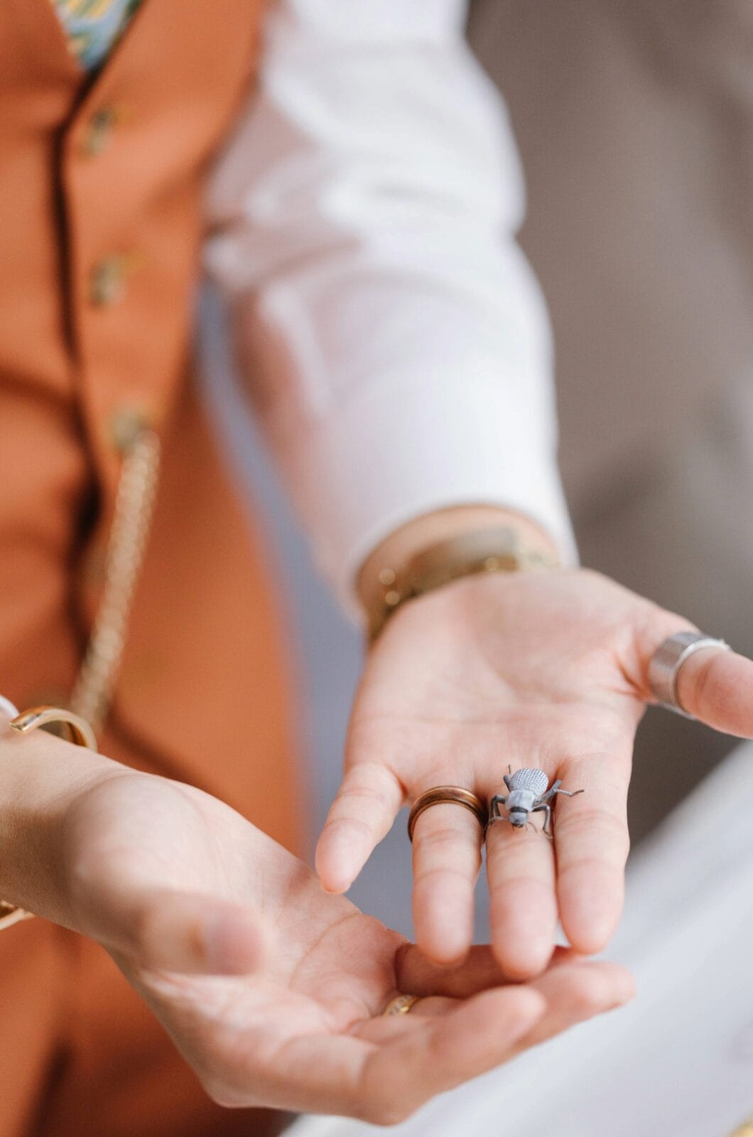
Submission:
[[[554,844],[493,824],[490,932],[510,977],[546,966],[557,915],[579,952],[603,949],[622,906],[627,791],[648,663],[692,625],[585,570],[470,576],[405,604],[370,654],[349,730],[346,773],[318,841],[332,891],[349,887],[398,808],[432,786],[488,800],[508,763],[566,790]],[[753,736],[753,663],[702,650],[682,666],[682,705]],[[471,943],[482,833],[453,805],[425,811],[413,843],[416,940],[438,962]]]

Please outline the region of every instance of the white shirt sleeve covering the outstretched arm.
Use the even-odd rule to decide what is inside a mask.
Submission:
[[[574,557],[519,160],[464,18],[464,0],[276,0],[209,182],[206,267],[346,606],[381,539],[450,505],[521,511]]]

